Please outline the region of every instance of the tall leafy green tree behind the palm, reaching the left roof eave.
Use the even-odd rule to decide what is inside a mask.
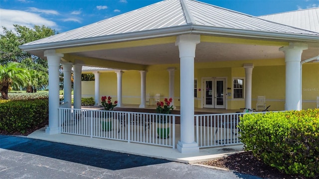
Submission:
[[[28,84],[27,91],[35,92],[37,88],[48,84],[47,61],[22,51],[19,49],[19,45],[54,35],[55,30],[44,25],[35,25],[33,29],[17,24],[13,26],[14,32],[2,27],[3,35],[0,34],[0,64],[18,62],[21,64],[20,67],[29,70],[31,78],[26,79]]]

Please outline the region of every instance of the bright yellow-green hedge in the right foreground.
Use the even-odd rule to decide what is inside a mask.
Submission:
[[[291,175],[319,177],[319,109],[247,114],[239,123],[245,150]]]

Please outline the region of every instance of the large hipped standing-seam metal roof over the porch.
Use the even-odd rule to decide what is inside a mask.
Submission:
[[[66,42],[68,43],[66,46],[83,45],[84,41],[88,40],[91,44],[103,43],[101,39],[108,39],[111,36],[124,39],[125,37],[133,37],[134,33],[138,33],[135,34],[138,37],[146,36],[145,34],[151,32],[158,36],[167,36],[168,32],[171,34],[174,32],[176,35],[176,33],[185,33],[186,30],[196,29],[196,27],[211,33],[216,33],[216,29],[210,28],[218,28],[219,34],[223,31],[229,34],[233,33],[234,30],[241,30],[245,34],[255,32],[255,35],[260,32],[276,33],[276,37],[278,37],[278,33],[319,35],[319,33],[271,22],[196,0],[163,0],[84,27],[26,43],[21,48],[30,50],[33,49],[33,45],[37,46],[37,49],[45,48],[45,45],[42,46],[42,44],[54,44],[50,48],[62,47],[55,46],[55,44]],[[79,42],[83,42],[83,44]],[[28,46],[30,47],[28,48]]]

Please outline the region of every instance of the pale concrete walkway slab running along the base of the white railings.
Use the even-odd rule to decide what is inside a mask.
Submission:
[[[234,152],[243,151],[243,145],[236,145],[200,149],[199,153],[181,154],[177,151],[177,149],[152,146],[146,144],[128,143],[124,141],[106,140],[69,134],[48,135],[45,133],[44,128],[33,132],[32,134],[28,135],[27,138],[92,147],[96,149],[154,157],[174,162],[190,164],[212,159],[218,159],[232,154]]]

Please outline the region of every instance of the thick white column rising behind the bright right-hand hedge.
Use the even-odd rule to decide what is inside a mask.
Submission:
[[[290,43],[289,46],[279,50],[285,53],[286,62],[286,105],[285,110],[300,110],[301,106],[301,74],[300,62],[303,50],[308,49],[307,44]]]

